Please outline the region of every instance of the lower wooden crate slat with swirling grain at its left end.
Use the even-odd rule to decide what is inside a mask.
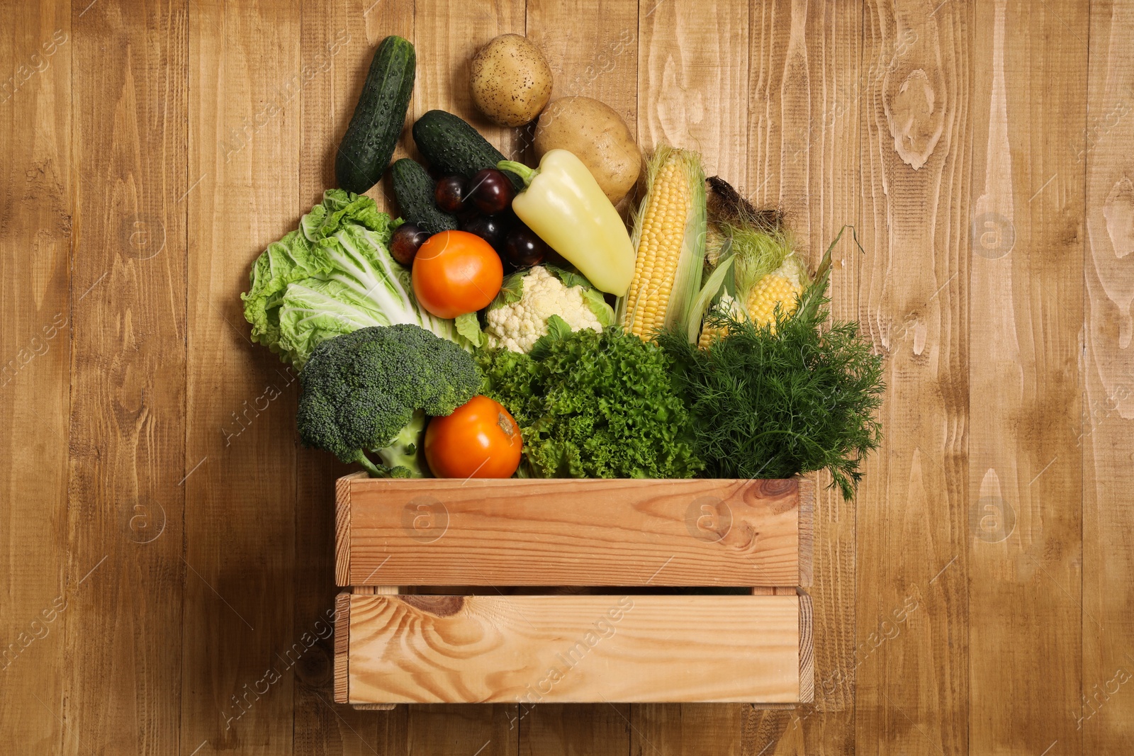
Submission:
[[[810,700],[813,687],[806,596],[340,594],[339,602],[340,703],[788,704]]]

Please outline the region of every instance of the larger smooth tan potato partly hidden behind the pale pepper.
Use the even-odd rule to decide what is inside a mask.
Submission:
[[[535,153],[542,158],[556,148],[574,152],[616,205],[642,171],[642,154],[626,122],[610,105],[591,97],[560,97],[540,116]]]

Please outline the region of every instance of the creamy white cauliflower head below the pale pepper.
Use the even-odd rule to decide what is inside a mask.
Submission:
[[[536,265],[505,280],[485,314],[488,346],[526,354],[548,332],[552,315],[561,317],[572,331],[601,332],[615,322],[613,309],[585,278]]]

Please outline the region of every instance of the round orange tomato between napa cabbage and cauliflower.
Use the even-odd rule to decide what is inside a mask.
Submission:
[[[481,237],[441,231],[417,249],[413,281],[422,307],[438,317],[456,317],[489,306],[503,283],[503,264]]]

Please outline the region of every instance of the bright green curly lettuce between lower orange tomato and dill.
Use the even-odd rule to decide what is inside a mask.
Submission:
[[[692,477],[703,468],[672,364],[620,329],[549,318],[531,354],[481,350],[483,392],[521,425],[533,477]],[[561,320],[561,318],[559,318]]]

